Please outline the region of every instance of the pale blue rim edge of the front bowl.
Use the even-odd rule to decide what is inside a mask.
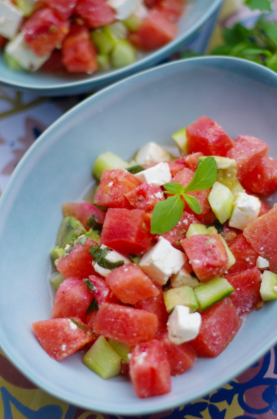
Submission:
[[[113,83],[112,85],[109,85],[101,89],[97,93],[94,93],[93,95],[83,99],[80,103],[73,106],[72,109],[69,109],[69,111],[65,112],[54,123],[52,123],[48,128],[46,128],[46,130],[38,137],[38,139],[31,145],[31,147],[29,147],[29,149],[23,155],[20,162],[18,163],[15,170],[13,171],[12,175],[10,176],[8,184],[5,187],[3,194],[0,197],[0,212],[1,212],[1,208],[5,205],[5,197],[9,194],[10,189],[13,188],[14,182],[17,181],[16,179],[18,178],[20,174],[21,167],[28,163],[29,156],[30,155],[32,156],[32,154],[36,151],[36,148],[40,147],[41,142],[43,143],[47,140],[47,137],[49,136],[49,134],[51,134],[51,131],[53,129],[56,129],[56,127],[59,127],[59,125],[63,124],[64,121],[66,121],[68,118],[72,116],[72,114],[74,114],[76,111],[79,112],[80,110],[82,110],[83,107],[87,106],[87,103],[90,103],[90,102],[93,103],[95,101],[97,102],[99,96],[102,97],[103,95],[105,96],[109,94],[110,91],[113,92],[114,90],[118,89],[120,85],[123,85],[125,83],[130,83],[130,81],[131,83],[136,83],[136,80],[139,80],[140,78],[144,78],[145,75],[147,75],[148,73],[157,72],[157,71],[159,72],[159,71],[162,71],[163,68],[183,66],[183,65],[186,65],[186,63],[190,63],[190,62],[195,62],[196,64],[197,62],[198,63],[207,62],[208,64],[210,63],[210,65],[213,65],[213,66],[218,65],[219,62],[225,62],[226,64],[229,64],[230,66],[231,65],[237,66],[236,67],[237,70],[239,70],[239,68],[244,68],[244,69],[247,69],[249,72],[254,71],[256,73],[259,73],[259,75],[262,76],[262,80],[269,77],[269,80],[273,81],[274,85],[276,85],[276,88],[277,88],[277,73],[275,73],[274,71],[268,69],[267,67],[263,67],[262,65],[257,64],[255,62],[251,62],[251,61],[240,59],[240,58],[224,57],[224,56],[205,56],[205,57],[193,57],[189,59],[180,59],[180,60],[168,62],[161,66],[153,67],[148,70],[144,70],[142,72],[133,74],[129,76],[128,78],[120,80],[117,83]],[[228,68],[231,68],[230,66],[228,66]],[[248,73],[246,72],[246,74]],[[255,77],[257,77],[257,75],[255,75]],[[104,411],[100,411],[100,413],[114,414],[114,415],[131,415],[131,416],[138,415],[138,414],[140,415],[153,414],[153,413],[158,413],[161,411],[166,411],[169,409],[174,409],[183,404],[191,403],[192,401],[195,401],[198,398],[201,398],[205,396],[206,394],[211,393],[212,391],[220,388],[222,385],[225,385],[230,380],[232,380],[233,378],[241,374],[241,372],[243,372],[248,367],[250,367],[254,362],[256,362],[256,360],[259,360],[259,358],[261,358],[276,343],[277,343],[277,335],[274,338],[272,338],[267,343],[267,345],[265,345],[261,350],[256,352],[254,356],[250,357],[247,360],[247,362],[244,362],[243,365],[236,367],[231,373],[224,376],[224,378],[218,379],[217,381],[210,384],[208,387],[205,388],[205,393],[203,391],[196,392],[193,398],[190,397],[189,400],[187,399],[187,397],[184,396],[182,399],[180,399],[180,401],[165,402],[162,404],[162,406],[152,406],[152,407],[148,406],[147,408],[142,406],[140,409],[137,409],[135,412],[132,411],[131,409],[125,409],[125,410],[121,409],[120,411],[119,410],[115,411],[113,408],[110,408],[107,405],[106,409]],[[49,389],[47,385],[44,385],[44,383],[40,382],[39,378],[33,377],[33,375],[28,371],[26,372],[24,370],[24,367],[17,360],[11,359],[12,357],[10,357],[8,347],[6,347],[7,339],[4,342],[4,344],[1,339],[0,344],[1,344],[1,349],[3,353],[5,354],[5,356],[13,363],[13,365],[15,365],[16,368],[18,368],[19,371],[21,371],[21,373],[23,373],[23,375],[25,375],[29,380],[31,380],[33,383],[38,385],[38,388],[41,388],[43,391],[46,391],[46,393],[49,393],[52,396],[59,398],[60,400],[65,401],[67,403],[70,403],[70,404],[76,403],[76,401],[74,400],[74,397],[69,399],[69,397],[65,396],[62,392],[56,393],[56,391],[54,392],[54,390],[51,391],[51,389]],[[159,398],[157,398],[157,402],[158,401],[159,401]],[[76,406],[78,406],[78,403],[76,404]],[[94,407],[90,403],[82,404],[81,407],[86,408],[88,410],[94,410]],[[97,406],[96,406],[96,409],[97,409]]]

